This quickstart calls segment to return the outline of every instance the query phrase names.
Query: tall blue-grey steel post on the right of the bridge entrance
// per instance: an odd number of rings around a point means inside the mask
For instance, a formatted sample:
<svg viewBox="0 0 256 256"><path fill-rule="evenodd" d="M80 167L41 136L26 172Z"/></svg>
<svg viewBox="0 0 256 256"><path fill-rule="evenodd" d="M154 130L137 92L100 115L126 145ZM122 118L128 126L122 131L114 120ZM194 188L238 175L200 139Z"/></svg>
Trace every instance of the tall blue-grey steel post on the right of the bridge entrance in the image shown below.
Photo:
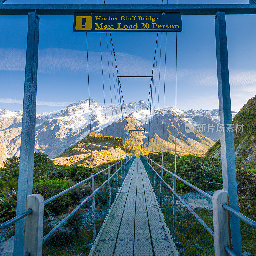
<svg viewBox="0 0 256 256"><path fill-rule="evenodd" d="M215 35L220 125L224 127L224 131L220 133L223 190L228 192L230 206L236 211L239 211L233 130L230 131L230 129L228 129L233 127L233 125L231 116L225 12L218 11L216 13ZM230 214L230 228L233 252L237 256L242 256L240 221L239 218L233 214Z"/></svg>

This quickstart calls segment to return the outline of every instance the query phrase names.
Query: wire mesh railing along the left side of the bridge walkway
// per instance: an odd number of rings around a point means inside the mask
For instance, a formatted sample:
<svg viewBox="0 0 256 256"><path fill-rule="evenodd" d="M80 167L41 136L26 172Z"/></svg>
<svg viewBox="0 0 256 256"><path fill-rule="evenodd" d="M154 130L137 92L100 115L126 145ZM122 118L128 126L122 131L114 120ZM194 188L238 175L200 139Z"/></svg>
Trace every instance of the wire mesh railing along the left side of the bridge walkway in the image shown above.
<svg viewBox="0 0 256 256"><path fill-rule="evenodd" d="M105 181L92 173L92 193L69 213L62 216L54 227L44 224L43 254L44 256L87 255L100 231L100 228L110 212L124 179L132 165L135 156L127 157L126 163L118 163L104 169ZM120 164L120 163L119 163ZM100 171L102 173L102 171ZM89 179L88 178L88 179ZM88 180L86 179L86 180ZM102 183L102 184L100 184ZM67 190L68 193L70 190ZM64 195L65 193L60 193ZM54 196L53 200L59 198ZM52 202L51 198L48 203Z"/></svg>

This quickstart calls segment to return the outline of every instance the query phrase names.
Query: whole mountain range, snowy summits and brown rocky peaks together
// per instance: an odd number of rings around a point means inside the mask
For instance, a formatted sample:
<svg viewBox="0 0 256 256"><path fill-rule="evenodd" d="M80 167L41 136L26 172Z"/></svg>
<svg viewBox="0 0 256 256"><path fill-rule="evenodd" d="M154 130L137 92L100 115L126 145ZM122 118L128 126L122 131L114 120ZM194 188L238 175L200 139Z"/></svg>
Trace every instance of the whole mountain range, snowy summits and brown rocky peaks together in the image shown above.
<svg viewBox="0 0 256 256"><path fill-rule="evenodd" d="M147 118L145 123L145 119L146 116L149 116L150 107L142 100L124 104L124 107L126 138L129 138L129 129L136 130L131 131L132 141L136 141L136 144L145 143L144 147L147 147L149 120ZM219 122L218 109L206 111L176 109L176 112L176 142L180 152L182 149L186 149L186 152L191 150L191 152L201 154L219 139L218 134L206 134L196 130L196 127L203 123L217 124ZM55 158L84 139L90 132L89 114L91 115L92 132L114 137L124 136L120 105L109 106L105 109L103 106L99 106L95 100L90 99L89 111L89 99L85 99L57 111L36 114L35 151ZM158 110L152 108L150 122L149 150L160 151L160 140L162 143L164 140L165 146L168 145L165 147L166 151L168 149L172 151L175 143L175 108L168 107ZM6 159L7 156L19 156L21 123L22 111L0 109L0 143L2 145L0 145L0 161ZM191 125L195 129L186 133L186 125Z"/></svg>

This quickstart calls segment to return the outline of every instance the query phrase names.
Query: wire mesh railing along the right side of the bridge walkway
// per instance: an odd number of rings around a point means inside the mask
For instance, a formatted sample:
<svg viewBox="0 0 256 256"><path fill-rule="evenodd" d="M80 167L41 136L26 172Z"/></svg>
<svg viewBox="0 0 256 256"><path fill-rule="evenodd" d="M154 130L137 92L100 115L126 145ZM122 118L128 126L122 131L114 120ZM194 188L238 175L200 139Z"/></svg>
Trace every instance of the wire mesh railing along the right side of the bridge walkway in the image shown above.
<svg viewBox="0 0 256 256"><path fill-rule="evenodd" d="M157 168L156 165L153 168L145 158L140 156L179 254L214 255L212 229L181 199L168 184L169 182L162 178L163 167ZM175 176L172 179L174 187Z"/></svg>

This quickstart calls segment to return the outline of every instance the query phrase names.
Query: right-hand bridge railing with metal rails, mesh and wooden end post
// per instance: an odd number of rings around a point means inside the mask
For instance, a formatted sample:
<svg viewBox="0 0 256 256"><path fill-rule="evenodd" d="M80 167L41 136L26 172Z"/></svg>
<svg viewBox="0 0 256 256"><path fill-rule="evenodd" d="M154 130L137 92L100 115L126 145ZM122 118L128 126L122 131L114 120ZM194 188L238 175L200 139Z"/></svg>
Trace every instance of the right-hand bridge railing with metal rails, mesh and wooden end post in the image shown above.
<svg viewBox="0 0 256 256"><path fill-rule="evenodd" d="M238 256L230 249L232 248L232 245L230 244L229 239L230 222L228 215L230 213L234 214L240 220L243 220L245 223L249 224L253 228L256 228L256 221L246 217L244 214L228 206L228 192L224 190L218 190L213 194L213 196L211 196L203 190L197 188L193 184L189 183L188 181L180 178L176 175L176 173L168 171L163 166L157 164L147 156L140 155L140 159L142 160L142 163L146 169L148 178L155 192L156 199L163 212L167 226L169 230L172 231L172 238L175 241L177 249L181 255L190 255L190 253L195 253L197 255L220 255L221 251L221 255L224 255L223 250L225 250L230 256ZM154 168L153 164L155 165ZM160 167L160 175L156 171L157 166ZM167 182L163 179L163 170L173 176L173 188L171 188L170 185L167 184ZM189 187L195 189L197 192L213 200L214 232L176 193L176 179L182 181ZM164 188L164 186L166 188ZM166 206L166 204L168 206ZM166 207L168 208L169 213L168 211L166 212ZM221 210L220 207L224 210ZM186 208L189 213L186 212L184 214L184 208ZM212 238L214 238L214 240L205 237L205 233L198 226L196 227L194 220L191 219L189 214L194 216L198 223L200 223L200 225L212 236ZM177 223L180 226L178 230L176 228ZM186 225L188 225L190 228L184 230L184 227ZM191 250L191 244L190 246L186 244L186 241L182 237L182 233L180 234L180 232L183 232L183 236L185 236L186 238L187 236L189 236L188 234L186 234L186 231L190 234L195 231L193 233L194 241L200 241L200 243L197 244L200 246L200 250Z"/></svg>

